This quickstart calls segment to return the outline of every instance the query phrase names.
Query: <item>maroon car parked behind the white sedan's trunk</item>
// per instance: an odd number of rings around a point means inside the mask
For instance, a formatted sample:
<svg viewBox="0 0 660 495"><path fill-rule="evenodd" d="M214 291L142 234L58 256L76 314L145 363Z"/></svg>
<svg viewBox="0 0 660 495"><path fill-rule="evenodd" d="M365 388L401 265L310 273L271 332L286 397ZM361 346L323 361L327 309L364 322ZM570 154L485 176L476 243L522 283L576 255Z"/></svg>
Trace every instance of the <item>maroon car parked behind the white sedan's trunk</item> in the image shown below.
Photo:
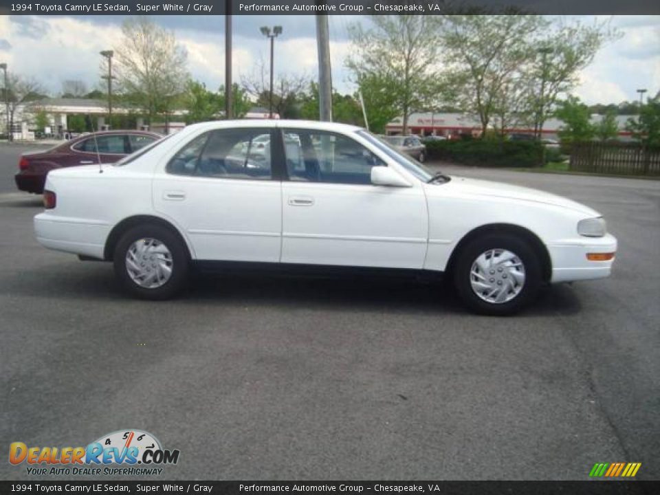
<svg viewBox="0 0 660 495"><path fill-rule="evenodd" d="M99 161L117 162L161 137L147 131L102 131L81 135L48 151L23 153L19 161L20 171L14 179L20 190L41 194L46 174L53 168L98 164Z"/></svg>

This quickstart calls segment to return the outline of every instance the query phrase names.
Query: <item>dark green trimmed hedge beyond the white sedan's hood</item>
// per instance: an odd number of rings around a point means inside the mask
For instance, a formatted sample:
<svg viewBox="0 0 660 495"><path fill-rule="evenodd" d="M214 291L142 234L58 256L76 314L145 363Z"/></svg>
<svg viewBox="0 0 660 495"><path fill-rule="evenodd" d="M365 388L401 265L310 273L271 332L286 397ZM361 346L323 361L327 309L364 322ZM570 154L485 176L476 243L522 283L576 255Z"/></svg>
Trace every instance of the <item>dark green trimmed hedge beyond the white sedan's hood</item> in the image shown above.
<svg viewBox="0 0 660 495"><path fill-rule="evenodd" d="M486 167L542 166L543 144L536 141L460 140L426 143L430 159Z"/></svg>

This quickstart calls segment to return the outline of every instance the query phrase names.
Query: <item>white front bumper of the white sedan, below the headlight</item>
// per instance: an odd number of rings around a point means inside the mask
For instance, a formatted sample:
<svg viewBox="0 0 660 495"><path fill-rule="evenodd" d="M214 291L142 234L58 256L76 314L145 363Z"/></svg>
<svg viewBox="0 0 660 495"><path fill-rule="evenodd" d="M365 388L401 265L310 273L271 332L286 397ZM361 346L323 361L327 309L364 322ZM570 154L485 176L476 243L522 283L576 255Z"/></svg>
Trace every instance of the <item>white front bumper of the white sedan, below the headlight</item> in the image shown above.
<svg viewBox="0 0 660 495"><path fill-rule="evenodd" d="M605 278L610 276L614 258L608 261L589 261L590 253L617 252L617 239L606 234L604 237L580 237L547 246L552 261L551 282L570 282Z"/></svg>

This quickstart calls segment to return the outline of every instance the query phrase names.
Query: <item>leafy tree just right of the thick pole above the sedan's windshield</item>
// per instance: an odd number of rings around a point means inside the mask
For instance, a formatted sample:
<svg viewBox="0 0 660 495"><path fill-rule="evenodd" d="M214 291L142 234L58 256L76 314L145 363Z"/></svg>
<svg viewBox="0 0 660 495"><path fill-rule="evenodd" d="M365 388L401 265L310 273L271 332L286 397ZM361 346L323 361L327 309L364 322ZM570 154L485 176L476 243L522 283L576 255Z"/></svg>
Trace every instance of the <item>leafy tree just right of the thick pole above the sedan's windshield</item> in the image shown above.
<svg viewBox="0 0 660 495"><path fill-rule="evenodd" d="M387 100L387 113L403 116L406 134L410 113L423 106L430 83L439 78L439 17L372 15L370 21L369 29L359 23L349 25L355 55L346 65L362 90L365 106L366 93ZM388 91L387 98L383 91ZM371 115L368 118L371 126ZM380 129L380 122L373 127Z"/></svg>

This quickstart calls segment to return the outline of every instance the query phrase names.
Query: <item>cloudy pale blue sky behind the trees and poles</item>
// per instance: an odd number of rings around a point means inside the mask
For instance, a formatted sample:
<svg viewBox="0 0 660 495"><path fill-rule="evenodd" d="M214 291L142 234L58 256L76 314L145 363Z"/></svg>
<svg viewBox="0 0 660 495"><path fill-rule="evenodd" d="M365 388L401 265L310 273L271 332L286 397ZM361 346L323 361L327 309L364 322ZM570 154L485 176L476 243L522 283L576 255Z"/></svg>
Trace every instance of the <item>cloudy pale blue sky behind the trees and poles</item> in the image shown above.
<svg viewBox="0 0 660 495"><path fill-rule="evenodd" d="M100 86L101 50L121 39L123 16L0 16L0 63L39 80L52 96L61 94L65 80L83 80ZM191 76L217 89L224 83L223 16L155 16L151 18L175 32L188 53ZM603 19L602 17L600 19ZM580 73L573 94L588 104L619 103L660 91L660 16L608 16L623 37L606 45L593 63ZM591 22L593 17L582 17ZM333 86L353 92L344 61L351 52L349 23L366 23L360 16L330 16L330 53ZM282 25L275 42L275 74L318 75L314 16L233 17L232 66L234 82L269 63L269 45L259 32L262 25Z"/></svg>

